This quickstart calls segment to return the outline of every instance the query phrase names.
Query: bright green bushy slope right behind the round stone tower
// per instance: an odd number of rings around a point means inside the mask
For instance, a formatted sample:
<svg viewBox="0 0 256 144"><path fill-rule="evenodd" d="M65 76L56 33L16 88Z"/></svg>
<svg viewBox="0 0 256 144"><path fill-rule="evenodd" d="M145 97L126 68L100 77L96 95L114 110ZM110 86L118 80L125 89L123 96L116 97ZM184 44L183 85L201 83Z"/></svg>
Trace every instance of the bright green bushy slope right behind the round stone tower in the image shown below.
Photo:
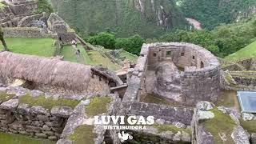
<svg viewBox="0 0 256 144"><path fill-rule="evenodd" d="M224 58L254 42L255 38L256 18L247 18L233 24L222 24L214 30L176 30L174 33L163 35L157 41L191 42Z"/></svg>

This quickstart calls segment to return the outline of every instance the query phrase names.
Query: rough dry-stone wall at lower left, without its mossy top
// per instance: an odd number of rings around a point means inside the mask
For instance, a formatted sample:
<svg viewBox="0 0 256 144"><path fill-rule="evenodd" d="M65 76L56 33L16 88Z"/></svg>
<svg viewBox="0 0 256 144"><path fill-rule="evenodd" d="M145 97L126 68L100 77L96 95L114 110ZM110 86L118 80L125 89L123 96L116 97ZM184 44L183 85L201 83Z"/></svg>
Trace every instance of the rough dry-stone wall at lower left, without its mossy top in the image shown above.
<svg viewBox="0 0 256 144"><path fill-rule="evenodd" d="M73 112L68 106L54 106L49 110L42 106L29 106L18 100L22 94L30 93L37 97L42 92L22 87L0 87L0 92L16 95L10 100L0 102L0 130L4 132L57 140L62 134L67 118Z"/></svg>

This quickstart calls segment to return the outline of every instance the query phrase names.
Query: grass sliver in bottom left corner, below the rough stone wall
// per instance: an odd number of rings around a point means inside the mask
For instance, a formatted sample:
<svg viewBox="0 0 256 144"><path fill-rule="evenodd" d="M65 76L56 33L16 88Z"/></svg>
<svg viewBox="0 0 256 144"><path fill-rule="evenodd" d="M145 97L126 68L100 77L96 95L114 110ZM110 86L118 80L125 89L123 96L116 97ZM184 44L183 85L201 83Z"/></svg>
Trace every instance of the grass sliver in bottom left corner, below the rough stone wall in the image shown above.
<svg viewBox="0 0 256 144"><path fill-rule="evenodd" d="M56 142L47 139L29 138L20 134L6 134L0 132L1 144L54 144Z"/></svg>

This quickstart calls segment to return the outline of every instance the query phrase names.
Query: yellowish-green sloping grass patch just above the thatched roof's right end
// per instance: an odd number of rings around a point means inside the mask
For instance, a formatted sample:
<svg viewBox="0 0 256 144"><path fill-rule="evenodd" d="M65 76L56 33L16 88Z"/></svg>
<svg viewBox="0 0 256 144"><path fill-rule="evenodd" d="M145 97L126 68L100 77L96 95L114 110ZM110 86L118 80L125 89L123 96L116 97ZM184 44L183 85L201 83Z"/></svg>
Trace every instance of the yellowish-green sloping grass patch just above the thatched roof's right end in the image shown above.
<svg viewBox="0 0 256 144"><path fill-rule="evenodd" d="M102 54L100 54L98 51L88 51L87 52L92 63L92 65L102 65L103 67L107 67L110 70L118 70L120 69L120 66L115 64L110 60L110 58L103 57Z"/></svg>

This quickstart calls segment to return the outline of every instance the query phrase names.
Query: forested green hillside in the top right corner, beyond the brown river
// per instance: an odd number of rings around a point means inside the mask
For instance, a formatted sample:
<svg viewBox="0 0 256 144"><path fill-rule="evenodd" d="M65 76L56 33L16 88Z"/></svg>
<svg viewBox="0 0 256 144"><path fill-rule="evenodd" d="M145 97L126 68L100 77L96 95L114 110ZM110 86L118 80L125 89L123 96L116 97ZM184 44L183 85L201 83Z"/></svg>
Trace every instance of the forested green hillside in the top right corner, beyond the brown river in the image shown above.
<svg viewBox="0 0 256 144"><path fill-rule="evenodd" d="M213 29L220 23L238 22L256 13L255 0L177 0L188 18L202 23L203 28Z"/></svg>

